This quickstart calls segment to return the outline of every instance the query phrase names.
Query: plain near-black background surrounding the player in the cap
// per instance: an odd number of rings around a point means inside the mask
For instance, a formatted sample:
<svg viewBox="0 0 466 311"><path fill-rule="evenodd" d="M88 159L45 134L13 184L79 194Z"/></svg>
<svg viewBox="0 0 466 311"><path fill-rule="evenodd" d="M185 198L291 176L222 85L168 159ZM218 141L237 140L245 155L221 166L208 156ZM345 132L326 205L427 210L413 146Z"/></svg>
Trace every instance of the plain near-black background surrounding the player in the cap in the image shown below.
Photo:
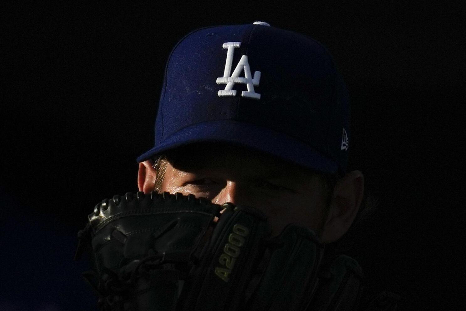
<svg viewBox="0 0 466 311"><path fill-rule="evenodd" d="M354 251L366 275L402 310L459 308L463 19L452 2L394 2L2 3L0 309L95 310L75 233L97 202L137 190L171 48L254 21L321 41L345 78L350 169L380 201Z"/></svg>

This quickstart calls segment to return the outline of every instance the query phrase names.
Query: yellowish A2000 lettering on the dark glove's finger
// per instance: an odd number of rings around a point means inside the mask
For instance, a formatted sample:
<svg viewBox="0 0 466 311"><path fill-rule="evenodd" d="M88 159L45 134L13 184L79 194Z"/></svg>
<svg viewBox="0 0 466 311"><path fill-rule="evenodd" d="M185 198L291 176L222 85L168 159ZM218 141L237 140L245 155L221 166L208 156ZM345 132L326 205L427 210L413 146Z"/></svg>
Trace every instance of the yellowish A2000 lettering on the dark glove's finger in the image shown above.
<svg viewBox="0 0 466 311"><path fill-rule="evenodd" d="M228 242L223 247L223 254L219 257L220 267L215 267L215 275L225 282L230 280L229 276L233 270L236 258L240 256L241 246L245 243L245 237L249 229L239 223L233 226L233 232L228 235Z"/></svg>

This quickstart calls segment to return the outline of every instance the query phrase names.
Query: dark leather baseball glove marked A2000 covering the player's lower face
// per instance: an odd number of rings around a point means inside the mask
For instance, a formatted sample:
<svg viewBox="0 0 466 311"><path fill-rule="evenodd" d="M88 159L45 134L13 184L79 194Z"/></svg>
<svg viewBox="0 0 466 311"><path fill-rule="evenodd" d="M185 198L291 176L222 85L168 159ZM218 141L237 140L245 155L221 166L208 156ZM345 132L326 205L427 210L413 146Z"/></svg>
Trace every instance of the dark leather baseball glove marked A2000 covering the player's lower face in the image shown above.
<svg viewBox="0 0 466 311"><path fill-rule="evenodd" d="M99 310L358 310L363 289L356 261L324 256L310 229L272 238L259 210L193 195L116 195L78 237Z"/></svg>

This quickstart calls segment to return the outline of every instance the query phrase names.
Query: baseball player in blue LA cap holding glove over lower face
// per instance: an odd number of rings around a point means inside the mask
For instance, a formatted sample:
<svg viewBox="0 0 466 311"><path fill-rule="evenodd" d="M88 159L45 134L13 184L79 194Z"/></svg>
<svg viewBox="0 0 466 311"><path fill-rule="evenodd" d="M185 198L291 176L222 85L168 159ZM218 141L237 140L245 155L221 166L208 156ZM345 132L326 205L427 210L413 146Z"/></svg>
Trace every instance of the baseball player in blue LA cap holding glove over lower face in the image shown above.
<svg viewBox="0 0 466 311"><path fill-rule="evenodd" d="M363 173L347 170L349 111L334 61L312 38L262 21L186 35L166 65L155 145L137 159L137 200L104 200L89 218L101 309L395 310L386 295L364 301L357 263L325 252L364 195ZM163 205L179 198L219 213ZM192 237L181 231L197 224Z"/></svg>

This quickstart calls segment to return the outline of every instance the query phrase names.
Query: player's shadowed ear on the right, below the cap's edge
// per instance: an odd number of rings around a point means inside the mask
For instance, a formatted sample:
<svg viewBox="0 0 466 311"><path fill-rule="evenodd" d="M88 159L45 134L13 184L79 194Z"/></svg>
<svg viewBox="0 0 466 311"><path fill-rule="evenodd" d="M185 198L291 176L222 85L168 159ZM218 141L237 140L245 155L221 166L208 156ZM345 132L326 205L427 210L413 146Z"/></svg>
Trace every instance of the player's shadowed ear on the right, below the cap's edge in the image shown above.
<svg viewBox="0 0 466 311"><path fill-rule="evenodd" d="M364 176L360 171L349 172L338 181L327 221L321 231L322 242L335 242L348 231L359 211L363 195Z"/></svg>

